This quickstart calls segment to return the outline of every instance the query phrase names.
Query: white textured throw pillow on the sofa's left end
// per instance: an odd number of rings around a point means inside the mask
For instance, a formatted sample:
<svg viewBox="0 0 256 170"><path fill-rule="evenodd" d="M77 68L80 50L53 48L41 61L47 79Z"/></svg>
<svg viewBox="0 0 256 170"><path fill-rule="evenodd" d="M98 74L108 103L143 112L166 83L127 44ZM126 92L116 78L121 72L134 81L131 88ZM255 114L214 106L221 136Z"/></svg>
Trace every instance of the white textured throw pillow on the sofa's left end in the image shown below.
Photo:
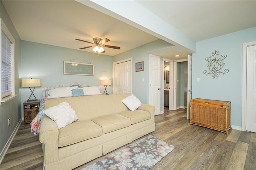
<svg viewBox="0 0 256 170"><path fill-rule="evenodd" d="M56 122L58 129L65 127L78 119L76 111L74 111L68 102L49 107L44 110L44 114Z"/></svg>

